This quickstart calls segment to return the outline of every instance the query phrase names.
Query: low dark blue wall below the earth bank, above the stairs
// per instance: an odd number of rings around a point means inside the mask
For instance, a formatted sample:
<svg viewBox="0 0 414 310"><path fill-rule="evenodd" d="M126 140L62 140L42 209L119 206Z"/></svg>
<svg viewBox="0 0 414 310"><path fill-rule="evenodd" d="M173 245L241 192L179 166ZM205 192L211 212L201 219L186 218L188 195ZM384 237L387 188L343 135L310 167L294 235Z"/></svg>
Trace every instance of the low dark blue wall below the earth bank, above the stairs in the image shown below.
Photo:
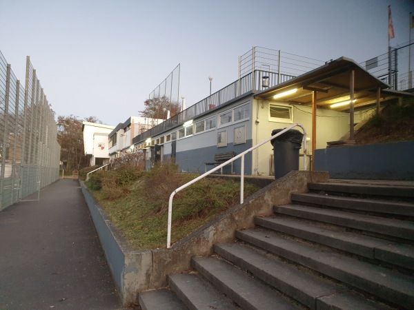
<svg viewBox="0 0 414 310"><path fill-rule="evenodd" d="M330 178L414 180L414 141L316 149L314 160Z"/></svg>

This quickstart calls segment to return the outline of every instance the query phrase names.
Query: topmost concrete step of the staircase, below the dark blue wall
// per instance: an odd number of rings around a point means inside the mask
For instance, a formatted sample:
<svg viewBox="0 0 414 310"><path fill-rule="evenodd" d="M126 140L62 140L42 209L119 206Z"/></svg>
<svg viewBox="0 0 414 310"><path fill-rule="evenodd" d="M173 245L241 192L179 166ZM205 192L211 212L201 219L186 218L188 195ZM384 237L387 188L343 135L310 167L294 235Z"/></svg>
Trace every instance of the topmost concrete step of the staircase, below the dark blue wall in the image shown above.
<svg viewBox="0 0 414 310"><path fill-rule="evenodd" d="M368 183L368 184L366 184ZM369 184L349 182L308 183L311 191L335 192L344 194L358 194L366 196L388 196L414 198L414 183L408 185L389 185L384 183Z"/></svg>

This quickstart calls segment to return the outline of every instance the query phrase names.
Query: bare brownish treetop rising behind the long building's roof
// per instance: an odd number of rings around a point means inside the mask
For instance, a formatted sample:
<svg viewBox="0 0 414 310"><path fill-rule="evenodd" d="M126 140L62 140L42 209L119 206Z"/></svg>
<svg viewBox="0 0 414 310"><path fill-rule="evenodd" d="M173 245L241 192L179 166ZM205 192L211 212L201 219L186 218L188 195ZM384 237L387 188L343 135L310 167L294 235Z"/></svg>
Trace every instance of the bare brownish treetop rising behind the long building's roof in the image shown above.
<svg viewBox="0 0 414 310"><path fill-rule="evenodd" d="M142 116L148 118L166 119L168 111L170 116L175 116L180 110L180 104L177 101L170 101L167 96L154 97L144 101L145 109L139 111Z"/></svg>

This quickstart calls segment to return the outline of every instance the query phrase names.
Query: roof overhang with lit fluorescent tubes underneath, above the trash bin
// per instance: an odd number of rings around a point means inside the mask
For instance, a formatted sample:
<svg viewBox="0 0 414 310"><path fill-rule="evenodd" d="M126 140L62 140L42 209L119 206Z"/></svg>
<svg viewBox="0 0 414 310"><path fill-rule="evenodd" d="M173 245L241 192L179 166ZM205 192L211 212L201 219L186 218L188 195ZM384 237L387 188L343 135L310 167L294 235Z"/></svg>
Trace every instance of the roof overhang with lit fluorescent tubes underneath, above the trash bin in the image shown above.
<svg viewBox="0 0 414 310"><path fill-rule="evenodd" d="M276 85L255 95L255 99L286 102L298 105L312 105L313 92L317 92L317 107L331 108L333 103L349 101L351 94L351 72L354 72L354 108L359 109L377 104L377 90L384 90L388 84L364 70L352 59L341 57L325 65ZM274 99L273 96L297 89L293 94ZM380 101L395 97L390 92L381 92ZM349 105L333 108L348 112Z"/></svg>

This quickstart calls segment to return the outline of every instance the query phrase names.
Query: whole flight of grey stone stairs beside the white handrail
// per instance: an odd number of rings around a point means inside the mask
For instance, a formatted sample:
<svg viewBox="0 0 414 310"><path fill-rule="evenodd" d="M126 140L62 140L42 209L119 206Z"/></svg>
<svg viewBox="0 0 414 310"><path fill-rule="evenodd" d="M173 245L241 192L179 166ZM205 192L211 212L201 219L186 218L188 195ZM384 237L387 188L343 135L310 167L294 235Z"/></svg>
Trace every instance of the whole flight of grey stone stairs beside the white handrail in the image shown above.
<svg viewBox="0 0 414 310"><path fill-rule="evenodd" d="M413 309L414 186L310 183L142 309Z"/></svg>

